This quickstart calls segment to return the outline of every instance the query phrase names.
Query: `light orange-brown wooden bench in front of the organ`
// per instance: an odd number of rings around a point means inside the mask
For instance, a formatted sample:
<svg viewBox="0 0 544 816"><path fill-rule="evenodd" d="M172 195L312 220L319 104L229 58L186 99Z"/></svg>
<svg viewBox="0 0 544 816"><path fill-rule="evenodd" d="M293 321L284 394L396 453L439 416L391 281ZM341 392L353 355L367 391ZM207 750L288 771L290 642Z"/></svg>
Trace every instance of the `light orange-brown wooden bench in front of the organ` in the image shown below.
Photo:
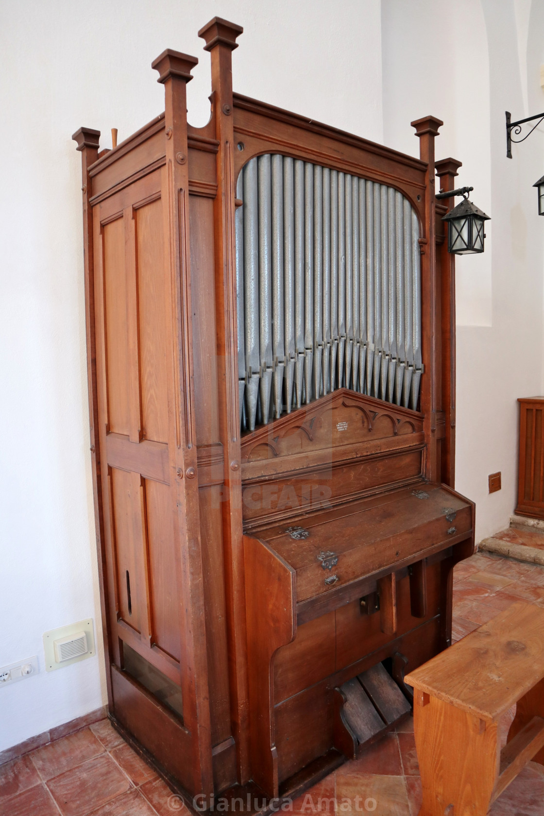
<svg viewBox="0 0 544 816"><path fill-rule="evenodd" d="M511 605L405 682L414 686L419 816L484 816L524 765L544 765L544 609ZM499 721L514 703L501 750Z"/></svg>

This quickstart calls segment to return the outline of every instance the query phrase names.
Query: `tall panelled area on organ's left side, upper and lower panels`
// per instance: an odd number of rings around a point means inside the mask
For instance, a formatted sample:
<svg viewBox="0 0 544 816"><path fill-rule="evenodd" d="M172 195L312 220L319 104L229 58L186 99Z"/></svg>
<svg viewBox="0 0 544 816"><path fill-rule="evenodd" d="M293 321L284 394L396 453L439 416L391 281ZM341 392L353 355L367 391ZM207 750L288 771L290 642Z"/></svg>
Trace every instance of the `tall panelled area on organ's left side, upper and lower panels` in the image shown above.
<svg viewBox="0 0 544 816"><path fill-rule="evenodd" d="M102 247L95 286L100 413L109 419L101 433L109 466L111 623L122 641L179 684L179 547L169 467L172 295L160 175L96 206L95 232ZM118 647L114 654L122 667Z"/></svg>

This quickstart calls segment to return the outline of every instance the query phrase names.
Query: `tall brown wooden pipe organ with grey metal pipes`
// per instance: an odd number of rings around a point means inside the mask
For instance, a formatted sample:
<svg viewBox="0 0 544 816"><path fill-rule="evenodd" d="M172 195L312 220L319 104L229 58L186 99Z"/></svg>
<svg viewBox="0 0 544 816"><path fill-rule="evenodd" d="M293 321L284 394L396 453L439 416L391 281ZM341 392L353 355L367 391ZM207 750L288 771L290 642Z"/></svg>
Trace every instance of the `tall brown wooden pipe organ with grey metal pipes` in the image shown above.
<svg viewBox="0 0 544 816"><path fill-rule="evenodd" d="M355 756L356 678L409 697L474 547L435 200L460 162L436 118L416 159L233 94L241 31L201 29L205 127L168 50L165 113L73 136L109 712L189 803Z"/></svg>

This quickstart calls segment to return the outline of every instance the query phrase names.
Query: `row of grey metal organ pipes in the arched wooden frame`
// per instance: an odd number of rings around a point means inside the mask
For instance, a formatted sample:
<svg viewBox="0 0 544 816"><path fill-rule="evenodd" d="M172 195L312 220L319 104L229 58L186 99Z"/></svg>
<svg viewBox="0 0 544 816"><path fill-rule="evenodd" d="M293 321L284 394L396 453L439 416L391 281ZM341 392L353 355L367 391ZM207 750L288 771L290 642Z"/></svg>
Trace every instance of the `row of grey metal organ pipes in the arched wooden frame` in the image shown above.
<svg viewBox="0 0 544 816"><path fill-rule="evenodd" d="M242 430L335 388L418 406L418 217L394 188L266 154L237 181Z"/></svg>

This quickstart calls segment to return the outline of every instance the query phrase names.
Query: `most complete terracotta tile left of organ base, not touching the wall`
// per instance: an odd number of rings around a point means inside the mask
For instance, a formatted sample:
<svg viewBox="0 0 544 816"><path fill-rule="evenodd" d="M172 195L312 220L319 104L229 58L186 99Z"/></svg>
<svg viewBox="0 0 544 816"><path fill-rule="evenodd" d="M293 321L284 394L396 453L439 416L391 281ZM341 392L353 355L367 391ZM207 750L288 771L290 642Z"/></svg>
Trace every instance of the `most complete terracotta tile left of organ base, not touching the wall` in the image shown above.
<svg viewBox="0 0 544 816"><path fill-rule="evenodd" d="M50 779L47 787L64 816L82 816L130 789L111 756L103 754Z"/></svg>

